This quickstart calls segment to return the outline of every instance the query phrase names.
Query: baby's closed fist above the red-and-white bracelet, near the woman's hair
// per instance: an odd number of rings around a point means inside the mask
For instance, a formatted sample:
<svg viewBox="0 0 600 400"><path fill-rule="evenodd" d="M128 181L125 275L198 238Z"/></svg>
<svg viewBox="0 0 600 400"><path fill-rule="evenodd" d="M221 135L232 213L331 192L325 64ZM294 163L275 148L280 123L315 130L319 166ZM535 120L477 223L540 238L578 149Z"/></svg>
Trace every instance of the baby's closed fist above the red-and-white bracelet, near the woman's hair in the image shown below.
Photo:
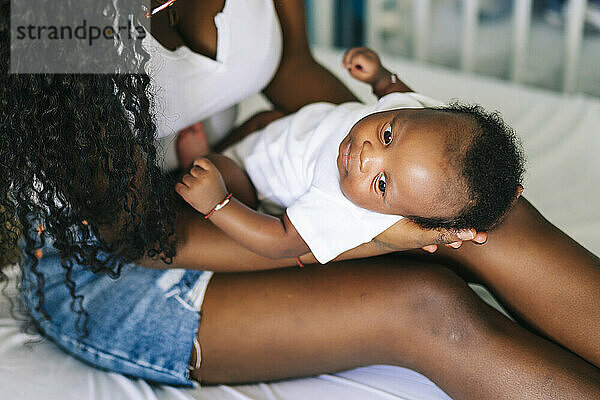
<svg viewBox="0 0 600 400"><path fill-rule="evenodd" d="M208 214L227 195L221 173L207 158L194 160L190 172L175 185L175 191L202 214Z"/></svg>

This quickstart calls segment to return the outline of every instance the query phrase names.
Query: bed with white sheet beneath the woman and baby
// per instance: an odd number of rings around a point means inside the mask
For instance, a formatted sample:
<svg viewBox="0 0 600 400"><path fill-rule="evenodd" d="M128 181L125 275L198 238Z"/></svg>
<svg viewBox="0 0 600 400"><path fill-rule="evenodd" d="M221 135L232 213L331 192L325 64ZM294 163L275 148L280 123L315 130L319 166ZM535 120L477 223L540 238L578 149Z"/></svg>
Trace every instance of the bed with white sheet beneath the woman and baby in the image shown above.
<svg viewBox="0 0 600 400"><path fill-rule="evenodd" d="M317 48L315 56L359 97L374 101L369 87L340 67L340 51ZM600 100L560 95L514 83L382 57L413 89L441 100L463 99L497 109L519 133L528 157L525 196L554 224L600 254ZM298 77L301 79L301 77ZM240 106L240 120L266 107L255 96ZM13 278L14 281L14 278ZM484 300L494 303L479 287ZM369 366L330 375L254 385L156 386L94 369L24 330L11 312L16 293L0 297L0 399L156 400L384 400L448 399L424 376L405 368Z"/></svg>

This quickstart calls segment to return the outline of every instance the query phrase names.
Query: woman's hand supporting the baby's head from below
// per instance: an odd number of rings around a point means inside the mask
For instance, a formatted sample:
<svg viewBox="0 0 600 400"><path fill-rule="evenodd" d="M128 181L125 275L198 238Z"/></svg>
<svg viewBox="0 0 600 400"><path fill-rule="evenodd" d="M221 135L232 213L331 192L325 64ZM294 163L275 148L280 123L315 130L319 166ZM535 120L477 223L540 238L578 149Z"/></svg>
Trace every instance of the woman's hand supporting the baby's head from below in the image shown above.
<svg viewBox="0 0 600 400"><path fill-rule="evenodd" d="M404 251L421 248L434 253L438 245L458 249L463 241L483 244L487 241L486 232L474 229L424 229L407 218L403 218L375 239L375 244L390 251Z"/></svg>

